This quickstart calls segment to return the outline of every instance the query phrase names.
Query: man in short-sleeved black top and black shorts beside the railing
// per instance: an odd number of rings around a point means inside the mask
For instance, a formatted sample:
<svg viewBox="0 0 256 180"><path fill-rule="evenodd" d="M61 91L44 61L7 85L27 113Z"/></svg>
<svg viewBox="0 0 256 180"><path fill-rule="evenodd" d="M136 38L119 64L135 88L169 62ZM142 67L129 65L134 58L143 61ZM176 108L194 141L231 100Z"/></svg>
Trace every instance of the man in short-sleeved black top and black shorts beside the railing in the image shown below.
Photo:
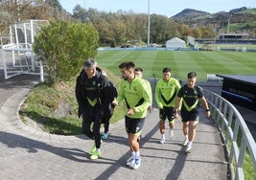
<svg viewBox="0 0 256 180"><path fill-rule="evenodd" d="M185 140L183 146L187 146L186 152L190 152L192 143L196 137L196 127L199 121L199 101L205 107L206 116L210 117L210 109L204 98L202 88L196 85L197 74L188 73L188 82L180 88L175 102L175 119L178 117L177 110L182 100L180 115L183 122L183 133Z"/></svg>

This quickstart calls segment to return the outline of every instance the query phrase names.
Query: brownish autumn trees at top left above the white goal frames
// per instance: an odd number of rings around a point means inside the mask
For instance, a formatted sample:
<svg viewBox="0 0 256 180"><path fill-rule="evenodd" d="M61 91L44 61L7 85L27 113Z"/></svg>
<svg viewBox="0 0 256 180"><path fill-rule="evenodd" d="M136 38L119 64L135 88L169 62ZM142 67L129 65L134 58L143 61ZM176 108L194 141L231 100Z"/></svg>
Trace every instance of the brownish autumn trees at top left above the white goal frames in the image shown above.
<svg viewBox="0 0 256 180"><path fill-rule="evenodd" d="M74 20L58 0L0 0L0 34L8 34L9 25L28 19Z"/></svg>

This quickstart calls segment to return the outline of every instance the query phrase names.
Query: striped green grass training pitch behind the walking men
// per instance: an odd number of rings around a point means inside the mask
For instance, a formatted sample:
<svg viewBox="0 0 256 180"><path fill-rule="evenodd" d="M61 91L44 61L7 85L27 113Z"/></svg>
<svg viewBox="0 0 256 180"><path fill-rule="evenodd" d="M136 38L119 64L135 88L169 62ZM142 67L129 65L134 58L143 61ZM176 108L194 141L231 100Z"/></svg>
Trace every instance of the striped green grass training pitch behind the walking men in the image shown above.
<svg viewBox="0 0 256 180"><path fill-rule="evenodd" d="M207 74L256 75L256 53L207 51L157 51L157 50L102 50L96 59L100 66L120 76L118 65L130 60L142 67L144 78L162 78L162 69L170 67L176 79L186 79L195 71L198 80Z"/></svg>

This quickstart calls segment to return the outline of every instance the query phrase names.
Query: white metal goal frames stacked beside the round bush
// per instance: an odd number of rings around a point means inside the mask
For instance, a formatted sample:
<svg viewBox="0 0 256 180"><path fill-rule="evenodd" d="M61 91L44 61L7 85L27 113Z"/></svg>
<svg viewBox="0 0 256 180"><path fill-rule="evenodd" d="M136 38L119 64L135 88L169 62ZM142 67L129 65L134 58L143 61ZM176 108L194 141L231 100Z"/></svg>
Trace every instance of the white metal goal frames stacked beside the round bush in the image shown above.
<svg viewBox="0 0 256 180"><path fill-rule="evenodd" d="M45 25L46 20L27 20L10 26L9 43L3 44L2 58L5 79L20 74L38 74L44 81L43 64L32 50L35 35Z"/></svg>

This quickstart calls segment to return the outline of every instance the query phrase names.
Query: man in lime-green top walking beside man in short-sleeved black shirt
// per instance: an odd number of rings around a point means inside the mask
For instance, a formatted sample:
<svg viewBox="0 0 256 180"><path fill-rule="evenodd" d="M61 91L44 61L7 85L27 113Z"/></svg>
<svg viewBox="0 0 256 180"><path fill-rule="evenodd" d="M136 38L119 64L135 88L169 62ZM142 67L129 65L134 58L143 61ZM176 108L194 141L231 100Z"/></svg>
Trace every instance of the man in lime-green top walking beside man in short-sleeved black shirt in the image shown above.
<svg viewBox="0 0 256 180"><path fill-rule="evenodd" d="M161 133L160 143L165 143L165 120L168 119L170 131L170 139L174 136L175 118L173 110L177 92L180 89L180 84L177 79L171 78L171 69L163 68L163 79L157 81L155 86L155 101L159 108L159 130Z"/></svg>

